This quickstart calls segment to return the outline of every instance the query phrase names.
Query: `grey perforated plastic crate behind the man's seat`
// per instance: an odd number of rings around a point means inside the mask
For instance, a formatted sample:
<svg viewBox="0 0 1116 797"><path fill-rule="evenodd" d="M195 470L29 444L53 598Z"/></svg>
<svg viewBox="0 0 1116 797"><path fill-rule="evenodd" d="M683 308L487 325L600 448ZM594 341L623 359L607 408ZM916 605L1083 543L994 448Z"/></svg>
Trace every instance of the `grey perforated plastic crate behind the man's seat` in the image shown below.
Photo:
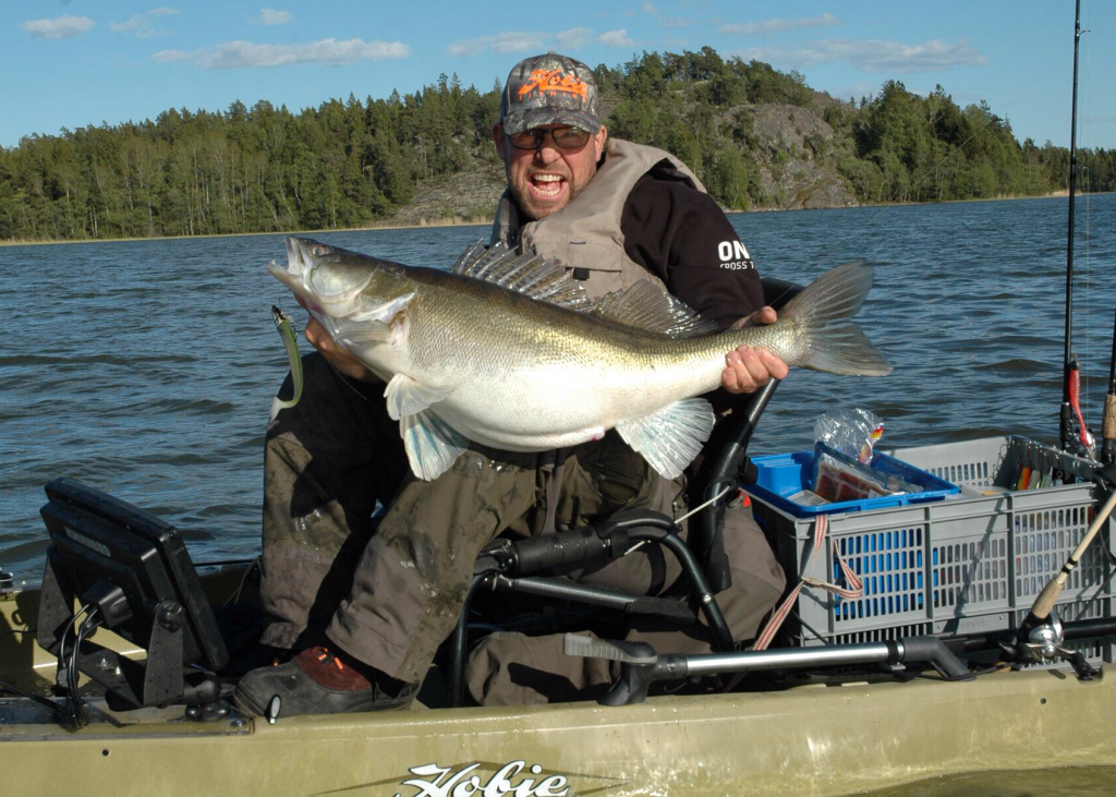
<svg viewBox="0 0 1116 797"><path fill-rule="evenodd" d="M788 633L801 645L1014 628L1085 535L1096 511L1091 463L1023 438L991 438L901 449L896 458L963 484L945 500L829 515L829 535L864 580L841 599L805 587ZM1012 490L1019 467L1060 469L1076 483ZM988 493L988 494L983 494ZM797 518L756 496L753 508L789 577L809 565L815 518ZM1058 601L1064 618L1112 616L1108 560L1086 551ZM831 544L812 573L840 584ZM1098 597L1093 602L1094 597ZM1106 641L1081 644L1094 662L1113 661Z"/></svg>

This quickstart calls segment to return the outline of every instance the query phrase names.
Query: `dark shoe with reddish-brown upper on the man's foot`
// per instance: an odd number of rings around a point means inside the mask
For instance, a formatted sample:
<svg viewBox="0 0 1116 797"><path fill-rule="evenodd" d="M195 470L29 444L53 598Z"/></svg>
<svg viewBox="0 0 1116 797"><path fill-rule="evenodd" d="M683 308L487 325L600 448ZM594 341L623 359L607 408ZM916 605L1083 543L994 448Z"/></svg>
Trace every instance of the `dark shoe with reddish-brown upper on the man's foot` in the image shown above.
<svg viewBox="0 0 1116 797"><path fill-rule="evenodd" d="M417 684L407 683L392 693L378 681L368 680L325 647L310 647L286 664L277 662L249 672L237 684L233 702L251 717L336 714L405 709L419 691ZM276 698L278 710L270 708Z"/></svg>

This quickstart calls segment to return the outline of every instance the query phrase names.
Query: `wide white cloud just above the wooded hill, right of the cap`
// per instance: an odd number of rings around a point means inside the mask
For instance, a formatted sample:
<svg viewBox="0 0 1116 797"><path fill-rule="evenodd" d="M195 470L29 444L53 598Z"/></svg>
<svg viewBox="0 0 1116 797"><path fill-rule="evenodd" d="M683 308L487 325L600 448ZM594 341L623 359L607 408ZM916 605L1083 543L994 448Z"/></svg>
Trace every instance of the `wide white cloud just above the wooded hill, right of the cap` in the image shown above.
<svg viewBox="0 0 1116 797"><path fill-rule="evenodd" d="M870 41L828 39L797 50L752 47L728 55L796 69L815 64L843 63L862 71L898 74L933 71L988 63L984 56L969 47L965 39L956 44L933 39L924 45L903 45L881 39Z"/></svg>

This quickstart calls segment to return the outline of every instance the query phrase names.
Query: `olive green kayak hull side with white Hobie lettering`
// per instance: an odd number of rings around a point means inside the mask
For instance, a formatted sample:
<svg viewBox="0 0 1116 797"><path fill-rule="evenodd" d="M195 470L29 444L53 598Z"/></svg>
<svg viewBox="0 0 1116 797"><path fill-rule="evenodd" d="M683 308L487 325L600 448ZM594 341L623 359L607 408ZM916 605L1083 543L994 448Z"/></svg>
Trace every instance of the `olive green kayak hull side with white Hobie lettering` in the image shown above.
<svg viewBox="0 0 1116 797"><path fill-rule="evenodd" d="M2 680L16 666L52 678L30 634L4 633L27 627L33 603L0 599ZM1116 675L1055 671L275 724L100 705L71 732L26 700L0 700L3 794L820 797L973 770L1116 765Z"/></svg>

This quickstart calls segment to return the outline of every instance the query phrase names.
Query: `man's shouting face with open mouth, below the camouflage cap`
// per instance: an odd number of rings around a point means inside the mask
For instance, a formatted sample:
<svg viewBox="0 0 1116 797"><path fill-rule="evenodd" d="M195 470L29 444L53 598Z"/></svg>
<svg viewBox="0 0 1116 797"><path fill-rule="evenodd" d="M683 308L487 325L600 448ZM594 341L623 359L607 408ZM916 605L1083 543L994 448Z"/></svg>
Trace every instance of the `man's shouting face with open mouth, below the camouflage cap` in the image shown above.
<svg viewBox="0 0 1116 797"><path fill-rule="evenodd" d="M538 129L560 129L566 125L542 125ZM557 213L580 193L593 175L605 148L608 131L590 135L584 146L570 150L555 144L546 135L537 150L517 150L503 133L503 125L492 125L492 141L503 159L508 185L520 211L532 221Z"/></svg>

